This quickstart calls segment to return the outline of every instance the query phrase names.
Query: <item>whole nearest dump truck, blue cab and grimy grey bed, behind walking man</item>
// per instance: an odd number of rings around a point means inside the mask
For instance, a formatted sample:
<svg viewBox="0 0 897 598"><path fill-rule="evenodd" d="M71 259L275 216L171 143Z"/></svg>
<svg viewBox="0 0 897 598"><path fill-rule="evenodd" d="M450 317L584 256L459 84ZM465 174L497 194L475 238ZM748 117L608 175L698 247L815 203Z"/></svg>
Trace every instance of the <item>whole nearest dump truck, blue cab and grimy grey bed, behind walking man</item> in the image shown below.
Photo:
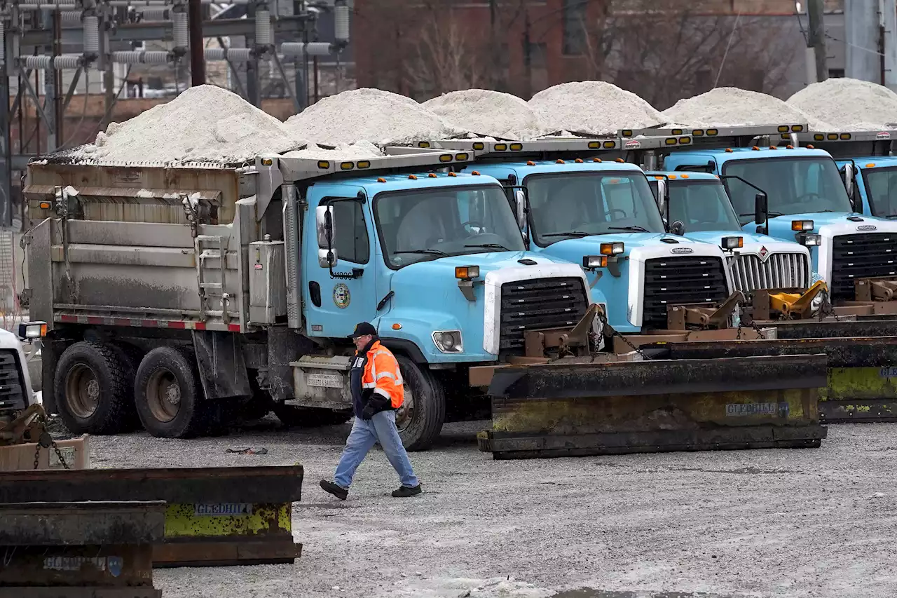
<svg viewBox="0 0 897 598"><path fill-rule="evenodd" d="M269 406L343 422L348 336L371 321L402 366L403 441L422 449L447 418L488 412L467 370L523 356L526 330L579 325L565 347L591 353L579 264L526 251L501 184L452 171L472 154L403 152L30 164L45 405L76 434L186 437Z"/></svg>

